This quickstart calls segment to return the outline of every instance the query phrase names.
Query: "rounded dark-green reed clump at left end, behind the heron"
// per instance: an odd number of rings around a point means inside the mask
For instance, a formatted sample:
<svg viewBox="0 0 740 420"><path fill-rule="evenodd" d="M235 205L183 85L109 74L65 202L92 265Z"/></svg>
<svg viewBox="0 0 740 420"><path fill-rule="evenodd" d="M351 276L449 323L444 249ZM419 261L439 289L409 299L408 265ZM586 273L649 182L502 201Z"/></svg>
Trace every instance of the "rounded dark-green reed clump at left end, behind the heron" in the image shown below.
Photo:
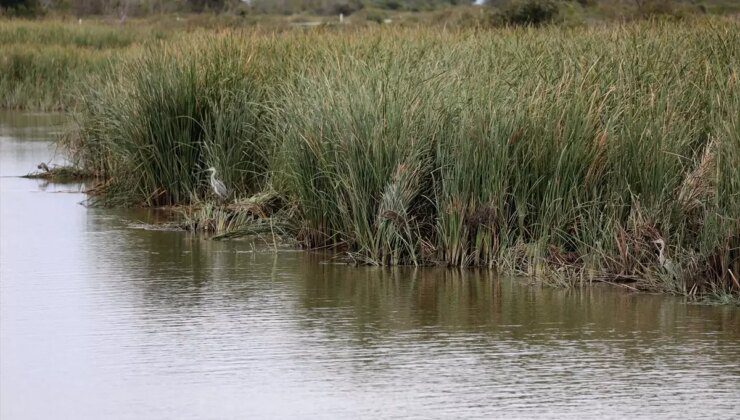
<svg viewBox="0 0 740 420"><path fill-rule="evenodd" d="M114 202L187 202L204 193L211 166L236 195L265 184L264 106L247 52L230 38L189 42L152 47L81 104L69 147L84 169L112 176Z"/></svg>

